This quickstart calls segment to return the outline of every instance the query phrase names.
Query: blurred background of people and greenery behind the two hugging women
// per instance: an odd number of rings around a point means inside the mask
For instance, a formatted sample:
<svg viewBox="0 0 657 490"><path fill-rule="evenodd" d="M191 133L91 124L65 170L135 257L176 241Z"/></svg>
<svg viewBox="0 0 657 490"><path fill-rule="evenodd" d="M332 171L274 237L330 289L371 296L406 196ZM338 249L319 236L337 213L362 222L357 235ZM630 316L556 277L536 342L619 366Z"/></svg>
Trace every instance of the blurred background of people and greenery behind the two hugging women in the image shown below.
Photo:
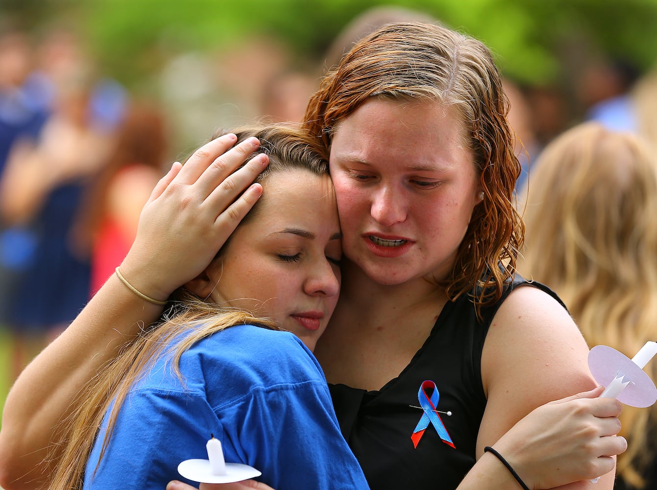
<svg viewBox="0 0 657 490"><path fill-rule="evenodd" d="M219 127L300 120L353 40L424 18L497 56L522 201L543 148L580 123L657 144L655 0L2 0L0 408L125 256L171 162Z"/></svg>

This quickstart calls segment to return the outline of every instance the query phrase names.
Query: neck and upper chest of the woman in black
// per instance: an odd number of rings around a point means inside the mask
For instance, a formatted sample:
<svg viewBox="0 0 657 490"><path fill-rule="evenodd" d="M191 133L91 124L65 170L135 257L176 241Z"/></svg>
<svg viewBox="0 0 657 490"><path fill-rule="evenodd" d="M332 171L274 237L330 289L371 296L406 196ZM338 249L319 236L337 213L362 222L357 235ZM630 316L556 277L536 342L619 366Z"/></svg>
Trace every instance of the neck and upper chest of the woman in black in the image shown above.
<svg viewBox="0 0 657 490"><path fill-rule="evenodd" d="M340 301L315 349L328 382L379 390L422 347L445 301L424 278L384 285L343 264ZM376 369L363 369L369 364Z"/></svg>

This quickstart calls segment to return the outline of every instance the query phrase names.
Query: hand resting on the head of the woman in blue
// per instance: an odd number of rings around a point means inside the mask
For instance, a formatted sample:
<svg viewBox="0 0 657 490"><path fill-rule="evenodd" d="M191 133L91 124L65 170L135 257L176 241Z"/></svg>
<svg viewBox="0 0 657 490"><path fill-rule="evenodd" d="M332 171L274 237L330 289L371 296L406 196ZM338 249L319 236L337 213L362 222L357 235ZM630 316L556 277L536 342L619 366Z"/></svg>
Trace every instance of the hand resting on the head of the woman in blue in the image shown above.
<svg viewBox="0 0 657 490"><path fill-rule="evenodd" d="M184 166L173 164L145 204L121 271L151 298L166 300L202 273L260 198L262 188L252 182L269 160L259 154L238 169L259 142L249 138L233 147L235 141L223 135Z"/></svg>

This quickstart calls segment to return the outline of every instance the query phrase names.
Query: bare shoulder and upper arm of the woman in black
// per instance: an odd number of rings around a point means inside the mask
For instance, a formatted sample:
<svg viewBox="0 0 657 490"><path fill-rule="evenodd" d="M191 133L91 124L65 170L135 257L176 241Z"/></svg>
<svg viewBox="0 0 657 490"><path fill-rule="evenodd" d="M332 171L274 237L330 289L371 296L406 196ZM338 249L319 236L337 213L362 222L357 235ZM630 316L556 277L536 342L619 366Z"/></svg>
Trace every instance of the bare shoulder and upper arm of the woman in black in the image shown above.
<svg viewBox="0 0 657 490"><path fill-rule="evenodd" d="M535 407L595 387L589 347L556 296L514 288L491 322L482 351L487 405L478 451Z"/></svg>

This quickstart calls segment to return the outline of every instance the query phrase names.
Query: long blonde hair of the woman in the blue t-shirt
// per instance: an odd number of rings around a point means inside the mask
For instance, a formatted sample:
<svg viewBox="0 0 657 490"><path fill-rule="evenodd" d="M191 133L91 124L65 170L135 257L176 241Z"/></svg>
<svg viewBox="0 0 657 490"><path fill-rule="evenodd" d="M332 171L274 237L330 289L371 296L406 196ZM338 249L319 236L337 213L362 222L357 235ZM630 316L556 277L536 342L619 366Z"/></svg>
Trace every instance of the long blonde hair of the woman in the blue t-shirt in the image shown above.
<svg viewBox="0 0 657 490"><path fill-rule="evenodd" d="M305 133L290 125L281 123L266 127L247 127L233 132L237 134L238 141L251 136L257 137L260 139L259 152L269 155L269 166L256 179L258 181L265 180L267 175L273 172L293 168L307 169L315 175L328 175L328 162L321 148L313 139L306 137ZM266 184L264 186L266 188ZM254 219L259 208L259 204L256 204L242 223ZM226 244L222 250L225 250L225 247ZM221 250L215 260L220 259ZM181 355L198 340L237 324L278 328L270 319L255 317L248 311L208 303L185 288L177 290L171 296L168 309L160 321L143 328L138 336L124 346L118 357L102 367L81 390L74 401L74 411L62 422L58 430L53 456L47 461L47 466L53 468L49 488L81 488L85 466L105 413L114 401L102 443L101 458L108 447L119 409L130 388L147 374L155 359L166 355L173 372L184 384L183 375L179 370ZM57 456L62 446L63 454Z"/></svg>

